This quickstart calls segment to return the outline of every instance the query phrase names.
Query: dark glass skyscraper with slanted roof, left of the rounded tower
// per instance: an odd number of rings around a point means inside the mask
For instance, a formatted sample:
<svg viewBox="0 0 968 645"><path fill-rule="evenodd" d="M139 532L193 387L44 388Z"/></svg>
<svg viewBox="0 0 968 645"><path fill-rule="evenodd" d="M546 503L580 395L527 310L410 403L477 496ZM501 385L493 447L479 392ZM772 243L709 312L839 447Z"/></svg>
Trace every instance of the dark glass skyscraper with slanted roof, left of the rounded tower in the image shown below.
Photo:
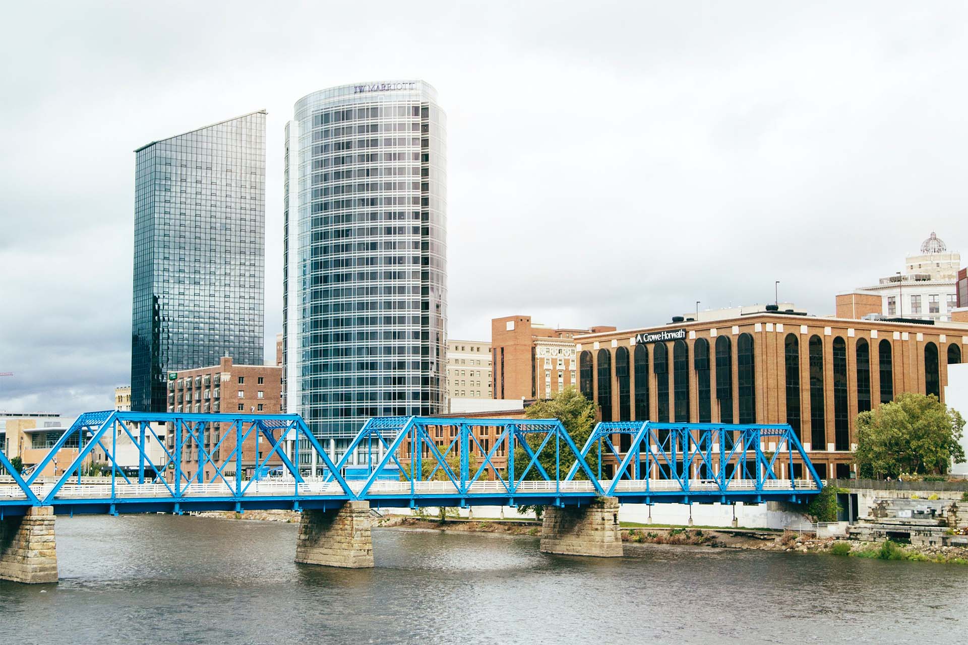
<svg viewBox="0 0 968 645"><path fill-rule="evenodd" d="M168 371L262 363L265 110L135 153L131 401L164 412Z"/></svg>

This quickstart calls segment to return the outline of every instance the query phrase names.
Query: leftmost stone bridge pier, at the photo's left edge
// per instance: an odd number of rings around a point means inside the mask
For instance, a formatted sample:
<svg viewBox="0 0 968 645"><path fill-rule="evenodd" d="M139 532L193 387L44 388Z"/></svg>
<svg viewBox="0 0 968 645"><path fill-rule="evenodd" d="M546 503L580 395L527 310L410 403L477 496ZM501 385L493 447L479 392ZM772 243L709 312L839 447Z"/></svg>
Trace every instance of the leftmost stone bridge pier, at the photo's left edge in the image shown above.
<svg viewBox="0 0 968 645"><path fill-rule="evenodd" d="M57 542L52 507L31 507L0 519L0 578L15 582L57 582Z"/></svg>

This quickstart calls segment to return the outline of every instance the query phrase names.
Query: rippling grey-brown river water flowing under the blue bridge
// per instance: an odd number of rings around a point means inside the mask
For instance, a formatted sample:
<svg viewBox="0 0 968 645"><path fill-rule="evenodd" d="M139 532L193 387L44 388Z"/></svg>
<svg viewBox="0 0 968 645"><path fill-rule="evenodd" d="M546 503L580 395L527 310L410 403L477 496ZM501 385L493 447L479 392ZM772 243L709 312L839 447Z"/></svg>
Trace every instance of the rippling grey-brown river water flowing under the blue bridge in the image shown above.
<svg viewBox="0 0 968 645"><path fill-rule="evenodd" d="M968 567L707 547L541 554L374 531L376 568L292 562L296 525L58 518L60 582L0 581L0 643L963 642Z"/></svg>

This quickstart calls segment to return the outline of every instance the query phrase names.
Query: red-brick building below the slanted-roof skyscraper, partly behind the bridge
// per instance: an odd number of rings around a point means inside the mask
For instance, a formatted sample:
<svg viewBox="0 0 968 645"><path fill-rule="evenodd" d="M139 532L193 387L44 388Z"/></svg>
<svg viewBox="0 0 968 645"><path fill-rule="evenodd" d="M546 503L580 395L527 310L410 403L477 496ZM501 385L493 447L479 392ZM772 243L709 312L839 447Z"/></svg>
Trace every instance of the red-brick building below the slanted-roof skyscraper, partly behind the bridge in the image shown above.
<svg viewBox="0 0 968 645"><path fill-rule="evenodd" d="M281 366L237 366L232 365L232 359L225 357L219 365L199 367L197 369L183 369L168 372L168 412L193 413L232 413L232 414L280 414L282 392ZM212 461L217 465L206 463L207 475L211 477L215 468L223 460L231 458L235 451L235 437L227 436L219 445L220 431L227 427L222 424L210 425L203 438L205 451L211 454ZM175 448L174 428L169 427L166 444L169 451ZM183 441L185 440L183 432ZM272 446L263 437L260 440L256 454L256 435L251 434L242 446L242 466L247 474L251 474L260 460ZM198 450L194 442L188 443L188 448L182 454L182 469L192 477L197 474L199 465ZM278 465L282 460L273 456L268 464ZM232 474L235 468L229 464L226 472Z"/></svg>

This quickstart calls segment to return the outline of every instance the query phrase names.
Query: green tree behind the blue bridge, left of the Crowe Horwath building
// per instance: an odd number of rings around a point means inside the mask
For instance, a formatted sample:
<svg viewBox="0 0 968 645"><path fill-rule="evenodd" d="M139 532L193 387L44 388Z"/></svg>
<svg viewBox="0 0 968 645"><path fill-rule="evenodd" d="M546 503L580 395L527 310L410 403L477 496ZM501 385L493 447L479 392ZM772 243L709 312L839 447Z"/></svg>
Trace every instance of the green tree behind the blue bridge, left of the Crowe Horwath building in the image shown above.
<svg viewBox="0 0 968 645"><path fill-rule="evenodd" d="M575 442L575 447L581 451L585 446L585 443L589 440L591 436L591 430L595 425L595 409L596 406L593 401L586 398L581 392L575 388L565 388L554 398L550 398L544 401L538 401L533 405L529 406L525 410L525 417L528 419L558 419L561 425L564 425L564 429L567 430L568 435L571 436L572 441ZM537 452L537 449L541 446L541 442L544 441L545 435L540 433L534 433L528 435L528 445L533 452ZM517 448L514 451L514 468L515 477L520 478L521 473L525 468L528 467L530 463L530 456L525 451L524 448ZM598 467L598 454L597 451L590 451L589 455L586 457L586 462L589 464L592 472ZM545 449L538 454L538 463L541 467L545 469L549 477L555 477L555 440L552 439L545 446ZM576 456L568 448L568 445L564 442L560 444L560 462L559 462L559 472L560 477L563 479L568 473L568 470L575 463ZM526 480L539 480L543 479L541 477L540 471L538 471L536 466L532 466L528 474L525 476ZM587 480L588 475L585 471L579 468L575 475L576 480ZM528 512L534 511L537 517L540 519L541 513L544 511L543 507L536 507L531 505L524 505L519 507L520 511Z"/></svg>

